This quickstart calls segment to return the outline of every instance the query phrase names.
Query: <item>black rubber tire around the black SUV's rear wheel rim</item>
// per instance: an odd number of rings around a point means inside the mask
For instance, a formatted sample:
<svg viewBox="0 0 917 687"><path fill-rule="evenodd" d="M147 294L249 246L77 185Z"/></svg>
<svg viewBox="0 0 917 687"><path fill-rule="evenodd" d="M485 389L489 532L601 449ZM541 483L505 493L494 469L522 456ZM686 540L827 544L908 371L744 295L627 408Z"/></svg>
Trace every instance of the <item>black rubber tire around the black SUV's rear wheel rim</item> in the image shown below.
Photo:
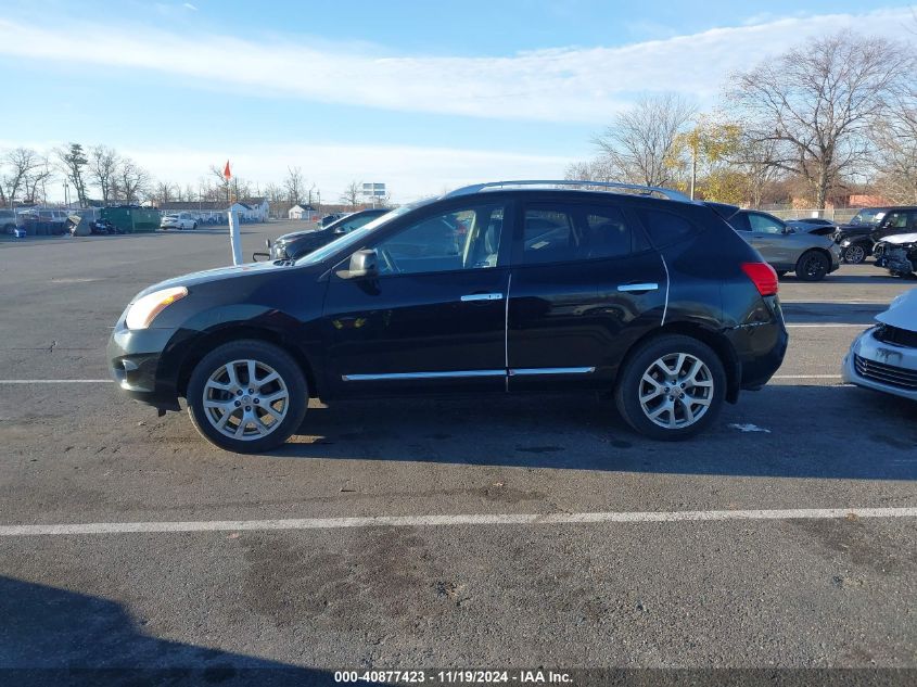
<svg viewBox="0 0 917 687"><path fill-rule="evenodd" d="M697 417L697 419L691 423L677 425L678 419L676 416L678 412L682 414L682 421L687 422L687 417L685 416L685 407L687 404L684 400L676 398L673 403L668 404L674 408L674 411L670 414L670 418L674 419L676 427L662 427L649 417L649 411L655 410L655 407L648 408L647 411L644 409L644 404L640 398L641 392L646 385L644 377L645 374L653 376L652 370L654 369L653 365L655 361L665 359L667 356L673 356L677 359L678 354L686 354L686 356L693 357L696 360L700 360L703 366L705 366L703 370L705 372L703 380L712 384L705 398L709 403L706 404L705 410L702 412L698 411L695 414L691 411L693 415L699 415L699 417ZM673 367L676 365L677 364L673 364ZM655 379L654 376L653 379ZM679 377L677 379L684 378ZM661 380L660 383L668 384L670 382ZM680 383L684 382L675 382L675 384ZM695 389L703 389L703 386L704 385L698 385ZM665 387L673 390L674 394L685 394L687 391L685 390L679 392L679 387L676 385ZM691 389L691 386L688 386L688 389ZM700 393L706 394L706 392ZM693 436L698 432L702 432L714 420L716 420L716 417L719 415L719 410L723 406L723 398L725 397L725 394L726 370L723 367L719 356L716 355L713 348L697 339L692 339L691 336L666 334L664 336L651 339L642 344L642 346L629 357L627 362L625 362L624 368L619 373L617 383L614 389L614 403L617 406L617 411L621 414L624 421L640 434L657 441L679 441ZM665 394L662 394L662 396L663 397L659 398L659 400L662 404L666 404L668 402L668 397L666 397ZM651 403L655 403L655 400L657 399L653 399ZM660 418L660 420L662 420L662 418Z"/></svg>

